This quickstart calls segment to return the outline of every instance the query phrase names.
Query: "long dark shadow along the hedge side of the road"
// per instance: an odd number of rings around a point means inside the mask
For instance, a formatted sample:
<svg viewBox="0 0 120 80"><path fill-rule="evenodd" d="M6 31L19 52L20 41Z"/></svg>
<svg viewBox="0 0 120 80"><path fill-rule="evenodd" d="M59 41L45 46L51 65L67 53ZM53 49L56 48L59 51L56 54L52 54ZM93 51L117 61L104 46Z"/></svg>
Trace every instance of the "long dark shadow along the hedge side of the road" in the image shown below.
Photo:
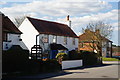
<svg viewBox="0 0 120 80"><path fill-rule="evenodd" d="M83 70L86 68L97 68L97 67L105 67L105 66L111 66L111 65L120 65L118 63L104 63L102 65L94 65L94 66L84 66L84 67L78 67L78 68L71 68L71 69L65 69L65 70ZM37 74L37 75L30 75L30 76L22 76L22 77L14 77L14 78L4 78L2 80L41 80L41 79L47 79L52 77L58 77L58 76L64 76L68 74L73 73L89 73L89 72L67 72L67 71L61 71L56 73L46 73L46 74ZM106 77L106 76L104 76Z"/></svg>

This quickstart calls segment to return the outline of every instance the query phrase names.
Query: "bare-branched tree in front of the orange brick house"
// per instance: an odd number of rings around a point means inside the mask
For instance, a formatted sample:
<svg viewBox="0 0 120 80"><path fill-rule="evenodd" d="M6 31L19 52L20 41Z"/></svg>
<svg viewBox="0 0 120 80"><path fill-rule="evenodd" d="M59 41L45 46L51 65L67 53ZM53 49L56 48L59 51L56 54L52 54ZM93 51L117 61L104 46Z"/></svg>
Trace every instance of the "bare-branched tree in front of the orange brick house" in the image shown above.
<svg viewBox="0 0 120 80"><path fill-rule="evenodd" d="M96 23L89 23L86 28L83 28L83 32L88 32L87 38L89 42L87 46L91 47L98 54L102 56L102 47L104 46L103 41L105 39L110 39L112 36L113 27L110 24L98 21Z"/></svg>

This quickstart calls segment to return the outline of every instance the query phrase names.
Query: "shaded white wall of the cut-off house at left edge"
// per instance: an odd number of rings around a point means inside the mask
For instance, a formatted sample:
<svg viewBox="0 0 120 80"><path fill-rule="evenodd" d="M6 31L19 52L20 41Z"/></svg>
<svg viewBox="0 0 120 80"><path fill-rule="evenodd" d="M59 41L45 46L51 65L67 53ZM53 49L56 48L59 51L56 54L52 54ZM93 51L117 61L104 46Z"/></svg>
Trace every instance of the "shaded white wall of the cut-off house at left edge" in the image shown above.
<svg viewBox="0 0 120 80"><path fill-rule="evenodd" d="M12 45L20 45L23 49L28 50L25 44L22 41L20 41L20 35L21 34L8 33L8 42L3 42L3 50L8 50L9 48L11 48Z"/></svg>

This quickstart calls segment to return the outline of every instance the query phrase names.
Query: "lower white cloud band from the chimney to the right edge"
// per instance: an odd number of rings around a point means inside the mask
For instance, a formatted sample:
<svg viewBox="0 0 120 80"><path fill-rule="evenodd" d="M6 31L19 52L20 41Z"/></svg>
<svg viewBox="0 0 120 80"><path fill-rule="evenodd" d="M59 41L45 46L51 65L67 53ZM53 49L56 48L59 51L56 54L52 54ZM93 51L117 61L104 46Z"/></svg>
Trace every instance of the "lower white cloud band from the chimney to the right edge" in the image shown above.
<svg viewBox="0 0 120 80"><path fill-rule="evenodd" d="M114 9L111 10L107 13L98 13L98 14L90 14L90 15L85 15L82 17L70 17L70 19L72 20L72 22L75 25L84 25L84 24L88 24L89 22L93 21L105 21L105 22L109 22L109 21L117 21L118 20L118 10ZM65 21L65 18L58 18L58 21L62 22ZM117 23L113 23L113 26L117 26Z"/></svg>

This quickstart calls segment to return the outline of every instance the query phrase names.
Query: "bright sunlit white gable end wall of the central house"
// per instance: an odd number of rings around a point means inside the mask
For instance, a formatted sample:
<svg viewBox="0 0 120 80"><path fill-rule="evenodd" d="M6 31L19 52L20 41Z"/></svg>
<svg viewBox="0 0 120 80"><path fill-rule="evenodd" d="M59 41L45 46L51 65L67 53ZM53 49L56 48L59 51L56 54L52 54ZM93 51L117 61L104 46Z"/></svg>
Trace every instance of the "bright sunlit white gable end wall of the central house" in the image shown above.
<svg viewBox="0 0 120 80"><path fill-rule="evenodd" d="M31 51L31 47L36 45L36 35L39 34L38 31L27 18L20 25L19 30L23 33L21 35L23 42L27 46L28 50Z"/></svg>

